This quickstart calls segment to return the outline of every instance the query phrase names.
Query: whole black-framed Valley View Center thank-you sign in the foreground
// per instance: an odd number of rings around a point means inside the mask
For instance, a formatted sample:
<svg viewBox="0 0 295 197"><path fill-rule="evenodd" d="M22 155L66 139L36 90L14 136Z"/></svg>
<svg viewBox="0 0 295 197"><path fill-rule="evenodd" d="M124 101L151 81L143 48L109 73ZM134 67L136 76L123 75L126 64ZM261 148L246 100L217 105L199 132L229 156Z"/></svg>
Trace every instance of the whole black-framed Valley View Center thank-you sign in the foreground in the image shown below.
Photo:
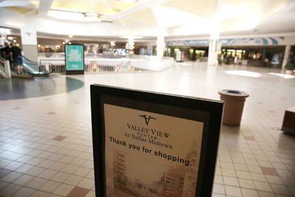
<svg viewBox="0 0 295 197"><path fill-rule="evenodd" d="M222 101L91 85L96 196L211 196Z"/></svg>

